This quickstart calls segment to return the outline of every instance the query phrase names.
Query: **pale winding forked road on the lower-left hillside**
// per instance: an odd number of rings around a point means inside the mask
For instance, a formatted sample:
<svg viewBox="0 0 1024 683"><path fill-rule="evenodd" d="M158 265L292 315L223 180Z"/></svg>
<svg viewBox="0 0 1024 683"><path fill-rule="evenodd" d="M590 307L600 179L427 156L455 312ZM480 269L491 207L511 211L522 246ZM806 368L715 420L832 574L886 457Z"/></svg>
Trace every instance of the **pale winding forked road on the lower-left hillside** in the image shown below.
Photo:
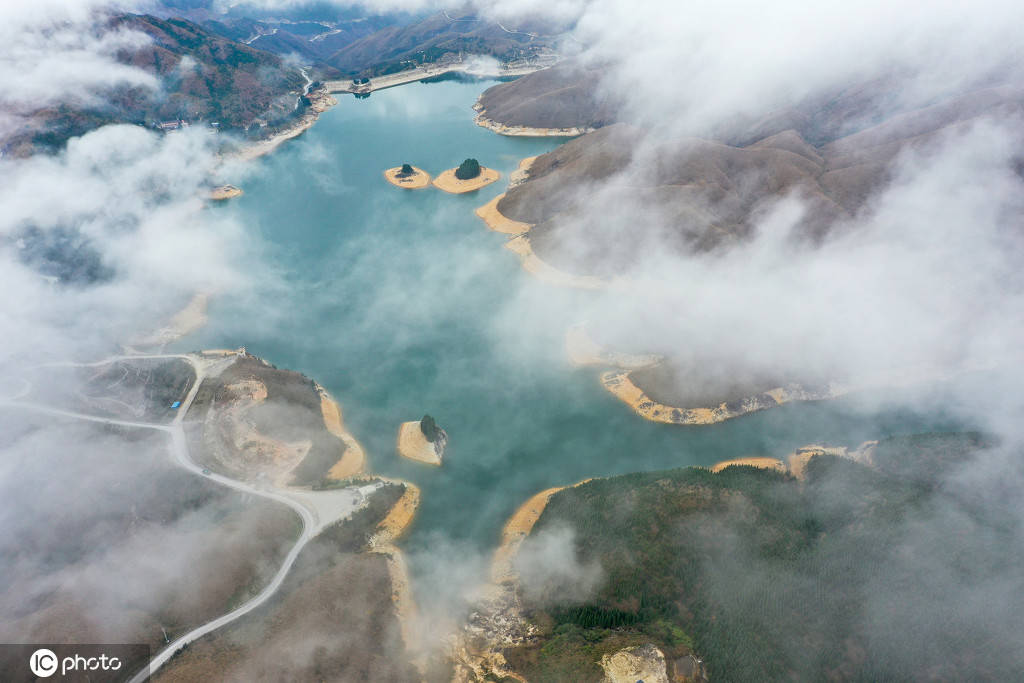
<svg viewBox="0 0 1024 683"><path fill-rule="evenodd" d="M259 592L257 596L246 602L241 607L227 612L217 618L207 622L206 624L197 627L186 633L185 635L172 641L167 647L161 650L153 659L150 660L150 665L135 674L132 677L130 683L141 683L146 678L153 675L158 669L167 664L167 661L177 652L182 646L202 638L208 633L219 629L220 627L230 624L234 620L248 614L252 610L256 609L270 597L278 592L281 585L285 581L285 577L291 570L292 565L295 563L295 558L298 557L299 553L305 547L309 541L319 532L319 530L326 526L339 519L344 514L350 513L352 510L356 509L366 500L367 494L375 489L379 484L368 484L366 486L360 486L358 489L339 489L334 492L324 492L325 496L310 495L306 492L302 492L300 495L296 495L294 498L289 496L284 492L278 492L267 488L257 488L251 486L243 481L238 481L229 477L222 476L216 473L204 474L203 468L197 465L188 457L188 443L185 437L184 431L184 418L188 413L188 409L191 407L193 401L196 399L196 394L199 392L200 386L203 384L203 380L206 379L209 369L216 369L217 366L229 365L233 362L234 356L227 356L221 360L213 361L209 365L197 362L195 356L184 355L184 354L157 354L157 355L117 355L96 362L88 364L77 364L77 362L59 362L59 364L47 364L49 366L79 366L79 367L93 367L101 366L114 360L124 360L124 359L147 359L147 358L182 358L188 361L195 373L196 380L193 382L191 389L188 390L187 395L181 400L181 405L178 408L178 413L174 417L174 420L170 424L157 424L150 422L131 422L127 420L115 420L112 418L103 418L94 415L87 415L84 413L76 413L73 411L62 411L59 409L49 408L47 405L42 405L39 403L24 402L17 400L0 400L0 404L12 407L12 408L24 408L31 411L36 411L40 413L46 413L49 415L57 415L68 418L75 418L79 420L88 420L90 422L100 422L103 424L119 425L123 427L138 427L142 429L156 429L158 431L167 432L171 437L171 455L174 457L174 462L185 468L186 470L199 475L204 476L207 479L216 481L217 483L227 486L228 488L233 488L236 490L243 492L245 494L251 494L253 496L260 496L262 498L269 499L271 501L276 501L283 505L287 505L291 509L298 513L300 519L302 520L302 532L299 535L298 540L295 545L289 551L288 556L285 558L284 563L281 568L278 569L278 573L273 575L273 579L267 584L262 591ZM25 393L25 392L23 392ZM351 505L339 505L337 500L339 497L347 496L351 499ZM316 502L325 498L331 498L329 505L317 505ZM346 510L347 507L347 510ZM329 518L323 518L324 515L321 513L325 510L330 511Z"/></svg>

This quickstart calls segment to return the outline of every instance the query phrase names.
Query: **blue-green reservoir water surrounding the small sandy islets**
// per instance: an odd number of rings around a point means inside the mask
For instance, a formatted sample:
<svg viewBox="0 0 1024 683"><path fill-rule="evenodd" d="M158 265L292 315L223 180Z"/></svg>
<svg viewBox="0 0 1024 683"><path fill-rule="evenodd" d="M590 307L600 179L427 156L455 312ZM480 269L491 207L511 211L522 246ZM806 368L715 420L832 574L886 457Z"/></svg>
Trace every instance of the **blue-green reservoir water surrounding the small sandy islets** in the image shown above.
<svg viewBox="0 0 1024 683"><path fill-rule="evenodd" d="M252 162L245 195L217 211L237 214L252 232L258 296L215 298L209 325L176 345L244 345L323 384L370 470L422 489L401 542L413 551L414 577L422 569L416 551L445 542L487 550L515 508L549 486L950 426L850 399L706 427L635 416L600 387L596 369L565 358L573 302L592 295L532 279L502 249L504 236L473 214L504 191L520 159L563 141L474 125L471 105L489 85L339 95L304 135ZM382 177L404 162L436 174L467 157L504 177L463 196L399 189ZM450 436L440 468L395 453L398 425L424 413Z"/></svg>

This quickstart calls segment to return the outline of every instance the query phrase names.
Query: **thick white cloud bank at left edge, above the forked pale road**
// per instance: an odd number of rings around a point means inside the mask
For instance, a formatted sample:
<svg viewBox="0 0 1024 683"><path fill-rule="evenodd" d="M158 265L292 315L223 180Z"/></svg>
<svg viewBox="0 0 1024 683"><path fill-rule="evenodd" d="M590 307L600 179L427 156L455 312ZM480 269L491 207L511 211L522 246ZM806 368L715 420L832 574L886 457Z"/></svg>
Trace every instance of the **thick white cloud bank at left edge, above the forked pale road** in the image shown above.
<svg viewBox="0 0 1024 683"><path fill-rule="evenodd" d="M117 350L191 294L245 282L242 227L202 209L217 164L207 145L200 132L108 126L54 157L0 161L2 315L19 331L4 361ZM102 276L75 278L82 258Z"/></svg>

